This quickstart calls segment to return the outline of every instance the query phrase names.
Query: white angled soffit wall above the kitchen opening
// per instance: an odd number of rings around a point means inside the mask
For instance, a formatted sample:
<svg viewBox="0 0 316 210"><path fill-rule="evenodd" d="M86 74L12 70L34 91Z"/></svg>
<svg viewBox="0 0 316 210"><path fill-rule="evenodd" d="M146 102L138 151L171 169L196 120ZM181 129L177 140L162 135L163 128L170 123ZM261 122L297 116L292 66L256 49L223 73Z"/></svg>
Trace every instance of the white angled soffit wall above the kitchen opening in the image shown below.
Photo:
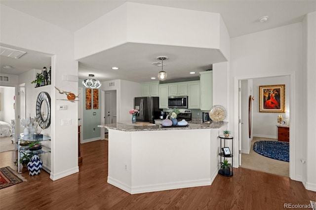
<svg viewBox="0 0 316 210"><path fill-rule="evenodd" d="M127 42L220 49L229 58L220 14L126 2L75 32L75 59Z"/></svg>

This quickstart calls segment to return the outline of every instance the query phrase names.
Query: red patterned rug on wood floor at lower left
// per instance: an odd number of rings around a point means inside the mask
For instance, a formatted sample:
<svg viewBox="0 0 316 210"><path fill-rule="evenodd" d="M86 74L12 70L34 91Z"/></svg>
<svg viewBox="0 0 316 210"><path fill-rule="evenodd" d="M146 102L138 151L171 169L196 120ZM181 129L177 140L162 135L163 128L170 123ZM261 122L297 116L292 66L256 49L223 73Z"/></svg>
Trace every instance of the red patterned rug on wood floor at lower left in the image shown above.
<svg viewBox="0 0 316 210"><path fill-rule="evenodd" d="M10 167L0 168L0 189L26 181Z"/></svg>

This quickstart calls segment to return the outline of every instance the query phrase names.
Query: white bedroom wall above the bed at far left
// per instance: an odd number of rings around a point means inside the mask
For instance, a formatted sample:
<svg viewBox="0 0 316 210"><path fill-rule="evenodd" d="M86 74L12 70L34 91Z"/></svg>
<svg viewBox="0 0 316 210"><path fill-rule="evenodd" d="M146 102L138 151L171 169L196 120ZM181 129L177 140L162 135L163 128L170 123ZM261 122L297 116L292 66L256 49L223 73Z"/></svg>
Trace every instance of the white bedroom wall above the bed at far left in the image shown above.
<svg viewBox="0 0 316 210"><path fill-rule="evenodd" d="M15 103L15 88L0 86L0 94L0 120L11 125L11 120L15 119L13 108L13 104Z"/></svg>

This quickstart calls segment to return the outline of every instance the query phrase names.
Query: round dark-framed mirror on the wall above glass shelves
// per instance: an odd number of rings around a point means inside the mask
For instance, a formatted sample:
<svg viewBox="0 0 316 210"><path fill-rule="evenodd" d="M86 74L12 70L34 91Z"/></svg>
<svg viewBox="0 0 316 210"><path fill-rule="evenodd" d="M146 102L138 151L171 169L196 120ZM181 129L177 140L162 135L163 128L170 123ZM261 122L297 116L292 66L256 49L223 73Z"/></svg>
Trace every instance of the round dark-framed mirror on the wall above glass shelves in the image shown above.
<svg viewBox="0 0 316 210"><path fill-rule="evenodd" d="M50 97L46 92L40 92L36 101L36 117L42 129L50 125Z"/></svg>

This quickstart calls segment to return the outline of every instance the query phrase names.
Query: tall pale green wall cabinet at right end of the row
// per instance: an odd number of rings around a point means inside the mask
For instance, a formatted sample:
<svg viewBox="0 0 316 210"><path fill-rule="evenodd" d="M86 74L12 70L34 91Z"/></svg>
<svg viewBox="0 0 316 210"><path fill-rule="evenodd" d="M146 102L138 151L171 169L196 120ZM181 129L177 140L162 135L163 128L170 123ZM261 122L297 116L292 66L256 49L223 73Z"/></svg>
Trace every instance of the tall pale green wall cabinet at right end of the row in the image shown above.
<svg viewBox="0 0 316 210"><path fill-rule="evenodd" d="M213 106L213 72L200 73L200 109L210 110ZM189 104L190 105L190 104Z"/></svg>

